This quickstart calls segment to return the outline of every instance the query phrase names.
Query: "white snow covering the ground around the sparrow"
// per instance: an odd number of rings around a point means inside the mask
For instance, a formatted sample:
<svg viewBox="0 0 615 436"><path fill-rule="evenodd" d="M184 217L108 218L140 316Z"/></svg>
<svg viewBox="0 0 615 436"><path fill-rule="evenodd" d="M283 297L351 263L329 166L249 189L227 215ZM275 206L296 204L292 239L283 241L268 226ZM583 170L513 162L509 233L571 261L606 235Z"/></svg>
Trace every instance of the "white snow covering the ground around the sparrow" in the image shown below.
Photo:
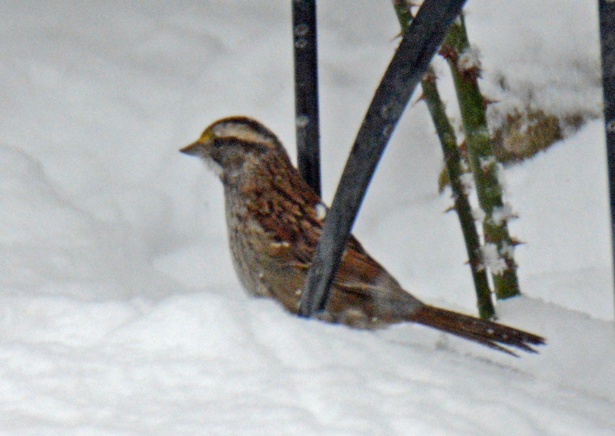
<svg viewBox="0 0 615 436"><path fill-rule="evenodd" d="M399 30L387 1L319 7L330 201ZM600 113L592 2L470 0L467 11L483 87L502 106ZM525 295L498 312L546 336L540 354L414 325L354 331L244 295L220 184L177 152L214 119L245 114L294 155L290 2L0 12L1 435L613 434L600 119L506 171ZM411 104L354 233L417 296L474 312L433 130Z"/></svg>

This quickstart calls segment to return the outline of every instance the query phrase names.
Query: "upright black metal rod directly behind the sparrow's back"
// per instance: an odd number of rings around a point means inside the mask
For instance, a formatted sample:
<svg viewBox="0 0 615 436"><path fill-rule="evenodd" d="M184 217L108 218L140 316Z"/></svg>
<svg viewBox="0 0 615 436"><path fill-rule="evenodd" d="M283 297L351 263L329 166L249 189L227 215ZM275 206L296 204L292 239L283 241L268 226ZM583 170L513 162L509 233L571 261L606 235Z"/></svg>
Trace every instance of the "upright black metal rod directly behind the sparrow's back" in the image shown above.
<svg viewBox="0 0 615 436"><path fill-rule="evenodd" d="M293 0L297 166L320 196L316 1Z"/></svg>

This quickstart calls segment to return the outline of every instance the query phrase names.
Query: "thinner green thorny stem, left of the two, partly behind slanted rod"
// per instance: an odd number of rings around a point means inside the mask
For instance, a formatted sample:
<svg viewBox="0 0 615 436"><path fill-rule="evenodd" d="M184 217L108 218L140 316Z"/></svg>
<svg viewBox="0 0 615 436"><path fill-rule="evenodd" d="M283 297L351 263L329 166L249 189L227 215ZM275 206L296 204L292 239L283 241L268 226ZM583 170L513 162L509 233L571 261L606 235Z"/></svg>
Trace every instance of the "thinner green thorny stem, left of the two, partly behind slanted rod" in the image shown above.
<svg viewBox="0 0 615 436"><path fill-rule="evenodd" d="M412 15L406 0L393 0L393 6L399 23L402 26L402 33L410 21ZM472 207L461 182L461 176L464 174L462 167L462 158L457 147L457 139L455 137L453 126L451 125L440 93L438 92L435 83L435 73L433 68L429 67L427 74L421 80L423 88L423 100L427 103L427 108L434 121L435 130L442 145L442 153L444 155L446 174L450 180L451 190L453 192L454 209L459 218L459 225L466 242L467 255L469 259L470 270L472 271L472 280L474 280L474 288L476 289L478 313L483 319L494 317L493 302L491 301L491 289L485 268L482 266L482 256L480 252L480 237L472 216Z"/></svg>

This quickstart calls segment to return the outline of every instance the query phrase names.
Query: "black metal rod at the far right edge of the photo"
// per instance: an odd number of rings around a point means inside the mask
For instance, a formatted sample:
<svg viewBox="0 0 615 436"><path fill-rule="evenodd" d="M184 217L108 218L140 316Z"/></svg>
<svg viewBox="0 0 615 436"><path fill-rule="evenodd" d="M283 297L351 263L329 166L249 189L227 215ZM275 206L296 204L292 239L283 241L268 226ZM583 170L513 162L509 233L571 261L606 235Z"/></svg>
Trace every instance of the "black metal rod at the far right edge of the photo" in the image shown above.
<svg viewBox="0 0 615 436"><path fill-rule="evenodd" d="M611 200L611 247L615 270L615 3L599 0L598 16L600 17L600 50L602 53L606 163Z"/></svg>

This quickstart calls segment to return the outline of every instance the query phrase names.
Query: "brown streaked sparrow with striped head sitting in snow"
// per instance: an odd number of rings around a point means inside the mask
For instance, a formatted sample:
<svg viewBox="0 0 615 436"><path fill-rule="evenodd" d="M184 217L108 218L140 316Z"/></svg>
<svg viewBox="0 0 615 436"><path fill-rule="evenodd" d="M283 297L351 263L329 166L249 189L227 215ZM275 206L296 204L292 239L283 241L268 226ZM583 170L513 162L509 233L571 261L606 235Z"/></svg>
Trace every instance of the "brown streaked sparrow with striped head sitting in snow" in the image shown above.
<svg viewBox="0 0 615 436"><path fill-rule="evenodd" d="M223 118L182 148L210 164L224 185L226 223L233 263L242 285L296 313L327 209L282 143L250 118ZM544 339L462 313L424 304L350 236L319 318L357 328L412 321L506 351L499 344L534 351Z"/></svg>

